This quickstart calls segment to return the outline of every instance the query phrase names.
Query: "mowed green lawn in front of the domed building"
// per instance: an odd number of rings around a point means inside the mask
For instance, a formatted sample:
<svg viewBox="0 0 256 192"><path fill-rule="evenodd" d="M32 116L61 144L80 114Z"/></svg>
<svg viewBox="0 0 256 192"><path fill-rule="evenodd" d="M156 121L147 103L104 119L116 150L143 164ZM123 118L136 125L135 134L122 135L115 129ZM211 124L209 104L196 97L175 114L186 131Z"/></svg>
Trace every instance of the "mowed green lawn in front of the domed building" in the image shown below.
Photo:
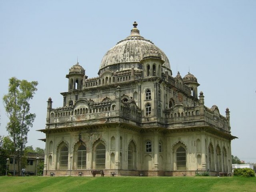
<svg viewBox="0 0 256 192"><path fill-rule="evenodd" d="M256 178L244 177L138 177L138 176L30 176L0 177L0 192L243 192L256 191Z"/></svg>

